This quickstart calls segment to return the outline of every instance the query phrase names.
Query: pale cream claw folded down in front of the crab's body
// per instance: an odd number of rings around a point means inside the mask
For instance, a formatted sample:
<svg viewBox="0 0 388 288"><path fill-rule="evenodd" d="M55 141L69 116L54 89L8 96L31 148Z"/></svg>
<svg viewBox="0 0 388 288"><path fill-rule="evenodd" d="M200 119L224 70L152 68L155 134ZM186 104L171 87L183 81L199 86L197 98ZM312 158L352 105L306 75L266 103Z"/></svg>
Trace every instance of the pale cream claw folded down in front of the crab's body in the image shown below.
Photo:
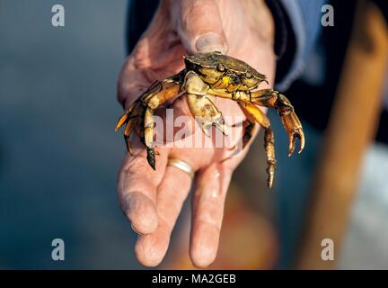
<svg viewBox="0 0 388 288"><path fill-rule="evenodd" d="M208 130L212 125L227 135L228 130L222 112L207 96L208 85L196 73L190 71L185 78L184 89L187 92L190 112L200 122L205 135L210 136Z"/></svg>

